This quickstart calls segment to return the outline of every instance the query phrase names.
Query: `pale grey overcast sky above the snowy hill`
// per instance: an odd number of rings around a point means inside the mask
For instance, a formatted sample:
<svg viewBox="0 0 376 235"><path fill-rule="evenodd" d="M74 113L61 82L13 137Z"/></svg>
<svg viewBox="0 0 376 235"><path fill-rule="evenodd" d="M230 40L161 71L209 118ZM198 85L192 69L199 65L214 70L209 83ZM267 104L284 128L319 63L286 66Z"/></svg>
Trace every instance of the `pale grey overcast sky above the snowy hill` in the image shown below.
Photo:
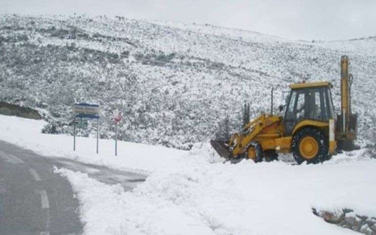
<svg viewBox="0 0 376 235"><path fill-rule="evenodd" d="M376 35L376 0L0 0L0 13L121 15L306 40Z"/></svg>

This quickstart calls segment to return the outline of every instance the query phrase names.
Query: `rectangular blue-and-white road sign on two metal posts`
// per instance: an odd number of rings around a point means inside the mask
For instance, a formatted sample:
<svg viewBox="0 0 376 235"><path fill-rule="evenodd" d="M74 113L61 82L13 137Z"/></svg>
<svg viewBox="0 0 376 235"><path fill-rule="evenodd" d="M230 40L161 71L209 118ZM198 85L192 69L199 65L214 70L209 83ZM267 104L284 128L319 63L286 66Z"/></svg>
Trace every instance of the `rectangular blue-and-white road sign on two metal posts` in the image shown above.
<svg viewBox="0 0 376 235"><path fill-rule="evenodd" d="M87 128L87 119L97 119L97 154L99 143L99 105L89 103L76 103L73 107L74 127L73 127L73 151L76 151L76 127L81 129ZM77 119L77 121L76 121Z"/></svg>

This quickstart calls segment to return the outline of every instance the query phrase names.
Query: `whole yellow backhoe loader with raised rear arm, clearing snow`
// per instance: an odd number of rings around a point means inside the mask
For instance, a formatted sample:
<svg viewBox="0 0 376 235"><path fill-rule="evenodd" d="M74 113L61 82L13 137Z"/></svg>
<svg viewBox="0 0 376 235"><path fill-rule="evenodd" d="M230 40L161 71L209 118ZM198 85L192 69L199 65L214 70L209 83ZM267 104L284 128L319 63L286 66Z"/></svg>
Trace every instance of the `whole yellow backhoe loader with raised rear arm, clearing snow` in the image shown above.
<svg viewBox="0 0 376 235"><path fill-rule="evenodd" d="M229 160L260 162L278 153L293 153L297 163L318 163L344 149L356 148L357 114L351 113L352 75L348 57L341 57L341 114L335 116L333 85L327 81L291 84L283 116L262 114L226 142L211 140L216 152Z"/></svg>

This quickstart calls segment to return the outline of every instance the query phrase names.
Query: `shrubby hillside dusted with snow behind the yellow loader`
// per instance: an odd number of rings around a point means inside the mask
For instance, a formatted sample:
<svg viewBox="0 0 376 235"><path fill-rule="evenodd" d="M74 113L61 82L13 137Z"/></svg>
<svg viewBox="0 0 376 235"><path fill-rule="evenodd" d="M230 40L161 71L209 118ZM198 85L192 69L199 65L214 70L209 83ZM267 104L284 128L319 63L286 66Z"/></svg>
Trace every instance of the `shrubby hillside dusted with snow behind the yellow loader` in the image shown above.
<svg viewBox="0 0 376 235"><path fill-rule="evenodd" d="M269 112L272 87L278 106L287 84L327 79L339 107L346 54L360 142L376 131L375 37L305 42L212 25L0 15L0 54L0 101L43 110L45 132L71 133L72 104L89 101L102 107L103 138L114 135L118 108L120 139L186 149L226 115L236 126L245 100L252 115Z"/></svg>

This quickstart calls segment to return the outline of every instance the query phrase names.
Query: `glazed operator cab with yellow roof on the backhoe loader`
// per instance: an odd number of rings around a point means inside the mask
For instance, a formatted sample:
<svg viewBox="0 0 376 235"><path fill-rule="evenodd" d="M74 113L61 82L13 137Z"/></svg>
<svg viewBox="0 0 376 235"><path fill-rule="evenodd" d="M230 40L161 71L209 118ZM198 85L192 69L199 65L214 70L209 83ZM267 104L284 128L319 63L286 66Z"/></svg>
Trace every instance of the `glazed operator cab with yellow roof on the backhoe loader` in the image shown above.
<svg viewBox="0 0 376 235"><path fill-rule="evenodd" d="M330 82L291 84L283 117L285 135L293 134L294 127L303 120L329 122L334 119Z"/></svg>

